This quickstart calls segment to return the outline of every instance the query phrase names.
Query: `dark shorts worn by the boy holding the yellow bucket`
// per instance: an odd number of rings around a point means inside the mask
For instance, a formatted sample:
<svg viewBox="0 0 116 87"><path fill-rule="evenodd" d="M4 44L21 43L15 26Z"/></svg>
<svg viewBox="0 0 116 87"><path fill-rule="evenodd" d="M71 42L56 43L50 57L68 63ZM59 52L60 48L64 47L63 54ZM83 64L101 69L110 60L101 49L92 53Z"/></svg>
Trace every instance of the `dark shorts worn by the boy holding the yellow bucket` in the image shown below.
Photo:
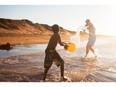
<svg viewBox="0 0 116 87"><path fill-rule="evenodd" d="M53 62L58 66L61 66L64 64L63 59L60 57L60 55L57 53L56 50L46 50L45 51L45 60L44 60L44 68L49 68L53 64Z"/></svg>

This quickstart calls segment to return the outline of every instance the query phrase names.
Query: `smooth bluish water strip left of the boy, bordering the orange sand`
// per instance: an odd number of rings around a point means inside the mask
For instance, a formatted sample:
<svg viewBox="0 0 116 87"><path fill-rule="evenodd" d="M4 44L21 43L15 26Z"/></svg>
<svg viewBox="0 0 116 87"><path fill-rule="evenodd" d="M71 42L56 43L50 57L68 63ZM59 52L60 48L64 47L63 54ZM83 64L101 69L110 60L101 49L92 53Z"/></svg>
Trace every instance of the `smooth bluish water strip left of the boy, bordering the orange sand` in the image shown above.
<svg viewBox="0 0 116 87"><path fill-rule="evenodd" d="M45 50L47 44L30 44L30 45L15 45L13 49L7 50L0 50L0 58L7 58L10 56L16 55L25 55L35 52L41 52Z"/></svg>

